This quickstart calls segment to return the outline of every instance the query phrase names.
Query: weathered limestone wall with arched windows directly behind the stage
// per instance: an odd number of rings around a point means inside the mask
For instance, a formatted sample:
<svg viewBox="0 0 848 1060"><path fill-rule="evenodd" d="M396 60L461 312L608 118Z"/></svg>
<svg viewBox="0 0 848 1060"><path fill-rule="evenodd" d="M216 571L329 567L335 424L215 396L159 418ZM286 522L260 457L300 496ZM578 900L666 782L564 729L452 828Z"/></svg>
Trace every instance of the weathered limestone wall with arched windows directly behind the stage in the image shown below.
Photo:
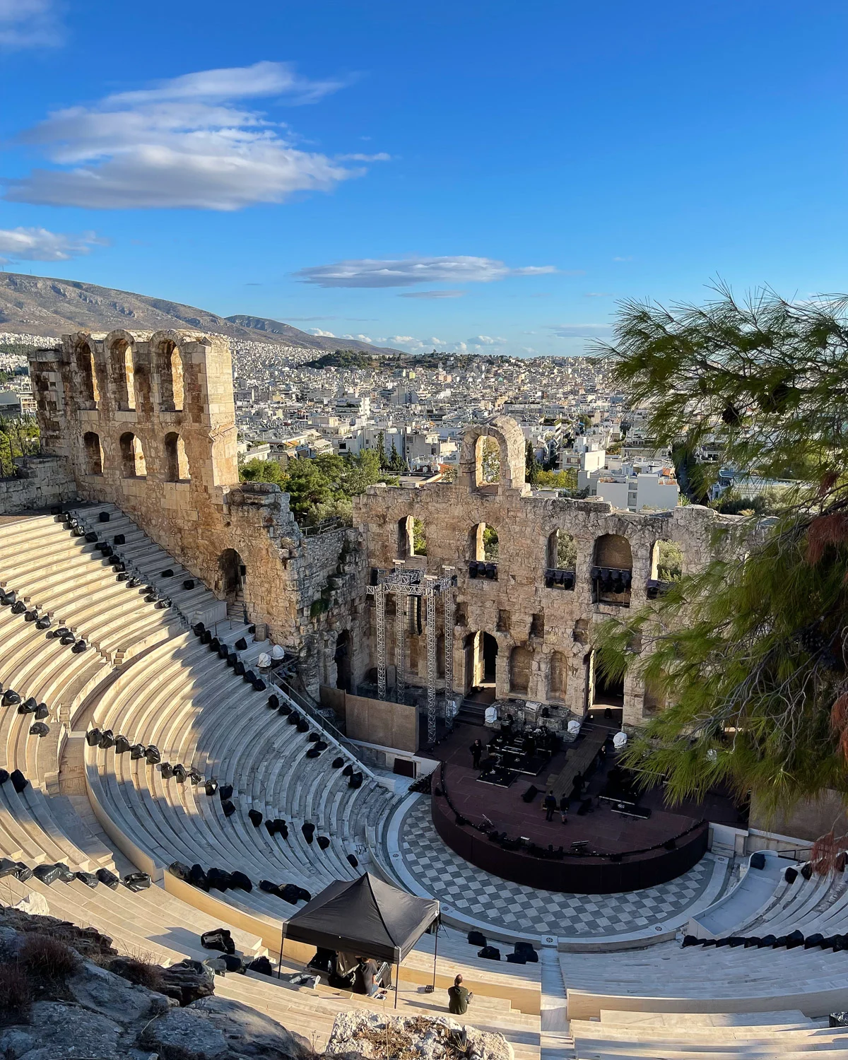
<svg viewBox="0 0 848 1060"><path fill-rule="evenodd" d="M508 473L501 473L499 484L487 484L480 478L477 444L483 436L496 438L501 446L501 469L507 467ZM427 541L427 555L410 559L410 565L425 566L435 576L442 573L443 565L457 570L455 688L467 690L477 683L479 674L471 672L471 652L464 646L476 633L485 632L497 641L499 699L514 696L563 705L577 714L583 714L591 705L590 625L622 613L621 604L593 600L590 571L599 563L599 548L604 547L598 545L599 540L615 535L615 543L620 545L624 540L624 547L629 543L633 569L630 607L637 608L647 599L658 541L676 542L683 551L684 571L696 570L717 547L713 535L718 532L721 538L721 531L736 522L697 506L631 514L614 510L604 501L533 495L524 482L522 432L506 418L467 432L456 483L431 483L411 490L376 485L355 499L354 523L363 534L369 567L391 569L393 562L403 558L399 524L408 517L422 520ZM469 576L469 563L478 558L475 528L480 524L494 527L498 533L497 581ZM577 544L573 589L545 585L545 570L550 566L549 537L556 530L571 534ZM368 615L364 634L373 666L373 607ZM442 632L441 625L438 632ZM390 617L386 640L387 658L393 661L394 621ZM416 674L423 677L425 673L423 640L414 633L408 640L410 683L416 683ZM644 689L629 676L624 684L624 721L640 724L643 716Z"/></svg>

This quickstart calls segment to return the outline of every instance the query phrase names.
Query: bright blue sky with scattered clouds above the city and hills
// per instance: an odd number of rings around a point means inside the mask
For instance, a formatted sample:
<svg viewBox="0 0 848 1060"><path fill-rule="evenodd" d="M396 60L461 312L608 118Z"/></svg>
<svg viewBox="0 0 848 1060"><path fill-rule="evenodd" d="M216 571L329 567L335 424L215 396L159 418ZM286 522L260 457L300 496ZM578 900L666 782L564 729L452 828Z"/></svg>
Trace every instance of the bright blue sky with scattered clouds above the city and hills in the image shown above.
<svg viewBox="0 0 848 1060"><path fill-rule="evenodd" d="M845 290L848 7L0 0L0 258L409 350Z"/></svg>

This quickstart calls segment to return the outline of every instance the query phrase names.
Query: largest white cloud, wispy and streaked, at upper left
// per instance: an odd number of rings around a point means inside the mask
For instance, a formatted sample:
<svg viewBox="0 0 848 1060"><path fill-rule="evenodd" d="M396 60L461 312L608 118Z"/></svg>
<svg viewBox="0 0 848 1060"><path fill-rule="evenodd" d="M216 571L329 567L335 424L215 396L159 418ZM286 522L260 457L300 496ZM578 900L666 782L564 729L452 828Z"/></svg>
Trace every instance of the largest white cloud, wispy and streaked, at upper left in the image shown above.
<svg viewBox="0 0 848 1060"><path fill-rule="evenodd" d="M61 167L6 180L5 198L88 209L238 210L328 190L364 170L294 147L284 126L233 101L314 102L339 85L308 82L284 63L257 63L55 111L20 139Z"/></svg>

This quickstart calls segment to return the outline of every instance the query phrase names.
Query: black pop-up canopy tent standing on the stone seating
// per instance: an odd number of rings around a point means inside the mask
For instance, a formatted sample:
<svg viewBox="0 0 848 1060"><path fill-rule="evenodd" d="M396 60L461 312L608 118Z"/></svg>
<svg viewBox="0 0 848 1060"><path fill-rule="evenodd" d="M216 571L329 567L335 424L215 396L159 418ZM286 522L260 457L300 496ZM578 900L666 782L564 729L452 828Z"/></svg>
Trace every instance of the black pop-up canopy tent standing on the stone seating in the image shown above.
<svg viewBox="0 0 848 1060"><path fill-rule="evenodd" d="M436 924L439 903L416 898L384 883L370 872L358 880L336 880L283 923L282 959L286 938L337 952L356 953L398 966L394 1004L401 961L425 931ZM434 954L434 985L436 955Z"/></svg>

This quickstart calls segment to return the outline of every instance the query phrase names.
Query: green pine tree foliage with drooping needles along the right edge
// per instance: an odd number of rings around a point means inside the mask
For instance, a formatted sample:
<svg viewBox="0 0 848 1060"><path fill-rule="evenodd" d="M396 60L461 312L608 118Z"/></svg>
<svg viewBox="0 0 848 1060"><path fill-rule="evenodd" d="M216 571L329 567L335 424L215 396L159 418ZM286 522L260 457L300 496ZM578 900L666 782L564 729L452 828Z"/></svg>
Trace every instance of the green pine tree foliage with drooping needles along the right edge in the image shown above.
<svg viewBox="0 0 848 1060"><path fill-rule="evenodd" d="M630 302L607 352L660 443L719 434L726 464L796 483L770 519L723 520L705 569L601 626L602 672L670 704L629 763L676 799L718 781L772 810L848 796L848 298Z"/></svg>

